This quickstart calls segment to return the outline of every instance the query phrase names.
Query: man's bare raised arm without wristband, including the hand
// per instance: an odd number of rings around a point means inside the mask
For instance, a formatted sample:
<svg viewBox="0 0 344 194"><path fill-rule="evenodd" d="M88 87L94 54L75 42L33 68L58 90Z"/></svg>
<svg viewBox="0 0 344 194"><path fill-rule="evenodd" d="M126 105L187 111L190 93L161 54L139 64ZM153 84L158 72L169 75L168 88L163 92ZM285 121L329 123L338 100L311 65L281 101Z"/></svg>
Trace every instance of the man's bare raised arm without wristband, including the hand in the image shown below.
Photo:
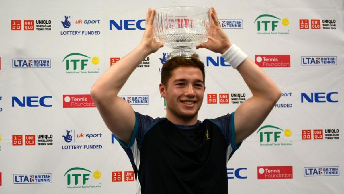
<svg viewBox="0 0 344 194"><path fill-rule="evenodd" d="M149 54L154 53L163 44L156 42L153 35L155 10L146 14L146 30L138 47L112 65L93 84L91 96L106 126L125 145L131 139L135 126L135 113L131 105L117 96L131 73Z"/></svg>

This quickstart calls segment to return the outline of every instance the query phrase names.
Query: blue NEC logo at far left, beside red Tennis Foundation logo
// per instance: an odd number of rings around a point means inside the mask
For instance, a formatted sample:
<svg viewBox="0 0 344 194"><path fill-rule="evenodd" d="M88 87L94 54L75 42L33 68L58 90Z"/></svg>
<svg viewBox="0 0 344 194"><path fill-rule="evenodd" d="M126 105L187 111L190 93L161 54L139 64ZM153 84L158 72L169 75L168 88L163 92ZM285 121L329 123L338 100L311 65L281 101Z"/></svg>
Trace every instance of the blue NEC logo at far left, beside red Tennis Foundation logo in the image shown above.
<svg viewBox="0 0 344 194"><path fill-rule="evenodd" d="M47 104L46 99L47 98L52 98L52 96L23 96L23 100L20 100L19 98L12 96L12 107L14 107L14 102L18 104L20 107L38 107L38 106L43 106L43 107L52 107L53 105ZM26 102L26 103L25 103Z"/></svg>

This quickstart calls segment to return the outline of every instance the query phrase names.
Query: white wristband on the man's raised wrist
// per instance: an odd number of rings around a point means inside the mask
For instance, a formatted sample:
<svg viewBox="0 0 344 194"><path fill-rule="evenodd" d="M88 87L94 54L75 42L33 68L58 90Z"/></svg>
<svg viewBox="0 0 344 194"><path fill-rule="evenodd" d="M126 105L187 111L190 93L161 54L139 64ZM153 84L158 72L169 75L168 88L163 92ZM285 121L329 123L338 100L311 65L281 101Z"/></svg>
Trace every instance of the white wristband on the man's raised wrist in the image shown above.
<svg viewBox="0 0 344 194"><path fill-rule="evenodd" d="M228 61L232 68L236 69L247 58L247 54L235 44L232 44L232 46L222 54L222 57Z"/></svg>

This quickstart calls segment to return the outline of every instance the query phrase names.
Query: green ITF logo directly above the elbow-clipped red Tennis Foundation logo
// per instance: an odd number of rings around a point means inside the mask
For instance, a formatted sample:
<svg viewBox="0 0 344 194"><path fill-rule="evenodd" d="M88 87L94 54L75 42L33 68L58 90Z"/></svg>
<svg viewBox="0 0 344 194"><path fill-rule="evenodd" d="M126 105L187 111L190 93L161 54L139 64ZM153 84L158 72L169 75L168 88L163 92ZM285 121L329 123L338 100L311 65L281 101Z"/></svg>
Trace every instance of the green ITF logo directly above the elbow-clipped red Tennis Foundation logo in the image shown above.
<svg viewBox="0 0 344 194"><path fill-rule="evenodd" d="M63 58L62 62L66 63L66 73L73 74L98 74L97 65L100 62L99 57L95 56L91 59L92 64L88 62L90 57L81 53L69 53Z"/></svg>

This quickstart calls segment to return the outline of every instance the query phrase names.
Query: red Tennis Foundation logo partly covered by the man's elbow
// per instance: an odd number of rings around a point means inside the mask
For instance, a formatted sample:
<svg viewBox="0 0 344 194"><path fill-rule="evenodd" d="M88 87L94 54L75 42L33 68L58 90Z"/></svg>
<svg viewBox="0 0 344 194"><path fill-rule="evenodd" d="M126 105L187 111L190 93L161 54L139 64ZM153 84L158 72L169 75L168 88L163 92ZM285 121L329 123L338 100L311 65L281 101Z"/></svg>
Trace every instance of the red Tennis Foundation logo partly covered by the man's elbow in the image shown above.
<svg viewBox="0 0 344 194"><path fill-rule="evenodd" d="M93 102L90 94L66 94L63 95L63 108L93 108L96 104Z"/></svg>

